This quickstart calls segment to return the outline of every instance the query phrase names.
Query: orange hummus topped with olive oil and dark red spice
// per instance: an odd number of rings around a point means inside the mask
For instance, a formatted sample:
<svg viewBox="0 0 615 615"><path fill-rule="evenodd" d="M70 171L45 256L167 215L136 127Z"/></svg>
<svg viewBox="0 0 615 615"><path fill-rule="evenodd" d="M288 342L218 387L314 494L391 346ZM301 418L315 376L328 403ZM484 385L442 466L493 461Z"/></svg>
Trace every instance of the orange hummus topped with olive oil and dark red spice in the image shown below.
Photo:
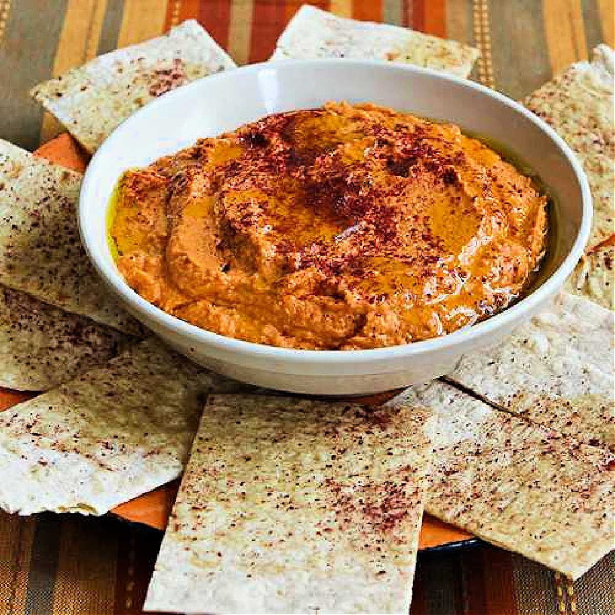
<svg viewBox="0 0 615 615"><path fill-rule="evenodd" d="M450 124L330 103L264 117L121 178L128 284L260 344L361 349L498 312L536 271L546 197Z"/></svg>

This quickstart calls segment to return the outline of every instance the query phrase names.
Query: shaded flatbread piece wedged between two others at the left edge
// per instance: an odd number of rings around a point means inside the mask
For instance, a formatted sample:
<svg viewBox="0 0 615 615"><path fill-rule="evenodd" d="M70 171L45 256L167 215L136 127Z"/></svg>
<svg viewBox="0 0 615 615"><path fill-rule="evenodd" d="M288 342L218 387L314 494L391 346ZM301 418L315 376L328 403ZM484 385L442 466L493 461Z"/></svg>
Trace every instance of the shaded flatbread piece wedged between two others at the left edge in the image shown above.
<svg viewBox="0 0 615 615"><path fill-rule="evenodd" d="M131 339L0 286L0 387L47 391L105 363Z"/></svg>

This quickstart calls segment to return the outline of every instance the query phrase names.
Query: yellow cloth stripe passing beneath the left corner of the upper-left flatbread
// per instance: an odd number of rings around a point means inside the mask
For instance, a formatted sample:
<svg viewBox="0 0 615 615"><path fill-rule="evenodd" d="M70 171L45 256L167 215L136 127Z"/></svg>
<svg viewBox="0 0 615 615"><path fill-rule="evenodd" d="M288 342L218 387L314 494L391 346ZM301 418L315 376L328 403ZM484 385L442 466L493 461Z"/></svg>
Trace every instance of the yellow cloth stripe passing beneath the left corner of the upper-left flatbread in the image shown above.
<svg viewBox="0 0 615 615"><path fill-rule="evenodd" d="M95 57L106 4L106 0L68 0L52 76L57 77ZM63 132L60 123L50 113L45 113L41 122L41 143L60 132Z"/></svg>

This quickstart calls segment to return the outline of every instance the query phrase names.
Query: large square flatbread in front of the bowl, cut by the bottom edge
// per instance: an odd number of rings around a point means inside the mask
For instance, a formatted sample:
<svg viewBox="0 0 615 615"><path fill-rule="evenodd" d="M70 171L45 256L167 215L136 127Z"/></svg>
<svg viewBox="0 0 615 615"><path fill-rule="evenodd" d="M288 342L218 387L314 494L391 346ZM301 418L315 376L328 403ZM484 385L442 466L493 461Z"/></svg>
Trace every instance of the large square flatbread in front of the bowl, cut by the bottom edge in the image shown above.
<svg viewBox="0 0 615 615"><path fill-rule="evenodd" d="M210 395L145 609L408 613L428 416Z"/></svg>

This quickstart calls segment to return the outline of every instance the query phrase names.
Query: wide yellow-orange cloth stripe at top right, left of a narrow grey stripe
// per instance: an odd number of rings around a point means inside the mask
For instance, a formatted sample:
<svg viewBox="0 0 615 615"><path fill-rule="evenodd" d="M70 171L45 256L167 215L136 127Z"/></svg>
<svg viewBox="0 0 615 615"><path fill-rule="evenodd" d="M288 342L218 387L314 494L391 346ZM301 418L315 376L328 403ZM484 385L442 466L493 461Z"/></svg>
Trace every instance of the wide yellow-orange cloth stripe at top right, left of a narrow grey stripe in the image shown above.
<svg viewBox="0 0 615 615"><path fill-rule="evenodd" d="M542 0L544 32L554 74L587 58L581 0Z"/></svg>

